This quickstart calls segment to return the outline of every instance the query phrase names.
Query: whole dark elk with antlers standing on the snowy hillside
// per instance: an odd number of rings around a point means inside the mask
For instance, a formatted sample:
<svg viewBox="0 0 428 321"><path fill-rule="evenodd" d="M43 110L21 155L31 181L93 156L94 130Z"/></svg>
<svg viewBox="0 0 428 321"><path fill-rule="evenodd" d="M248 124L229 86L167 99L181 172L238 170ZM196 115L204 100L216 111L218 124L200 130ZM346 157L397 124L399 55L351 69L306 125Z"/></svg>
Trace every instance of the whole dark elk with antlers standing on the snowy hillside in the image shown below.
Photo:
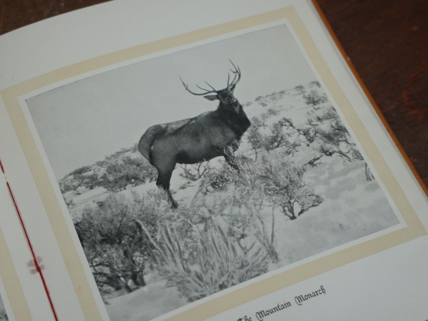
<svg viewBox="0 0 428 321"><path fill-rule="evenodd" d="M226 88L218 91L205 82L212 90L196 85L205 92L194 93L181 80L184 88L191 94L204 96L208 100L219 100L216 110L193 118L149 127L140 138L138 149L150 164L158 169L156 185L168 192L173 207L177 207L177 203L169 191L169 181L176 163L195 164L224 156L226 161L236 168L230 150L238 149L242 135L250 127L250 121L242 105L233 96L235 85L241 79L241 70L235 65L233 67L235 70L231 69L234 76L232 82L229 83L228 75Z"/></svg>

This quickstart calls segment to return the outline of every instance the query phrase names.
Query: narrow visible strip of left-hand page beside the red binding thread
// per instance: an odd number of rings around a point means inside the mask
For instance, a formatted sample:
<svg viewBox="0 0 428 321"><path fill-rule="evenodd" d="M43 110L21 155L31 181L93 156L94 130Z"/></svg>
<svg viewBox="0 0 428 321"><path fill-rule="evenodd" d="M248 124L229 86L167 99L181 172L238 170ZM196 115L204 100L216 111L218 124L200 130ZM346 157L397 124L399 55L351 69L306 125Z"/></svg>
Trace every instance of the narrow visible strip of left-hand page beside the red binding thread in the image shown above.
<svg viewBox="0 0 428 321"><path fill-rule="evenodd" d="M3 146L9 142L2 139ZM2 149L1 156L5 155L4 151ZM3 166L3 162L1 165ZM4 167L1 169L5 170ZM42 279L16 211L15 205L21 207L22 200L14 200L15 197L11 194L18 185L16 181L9 184L6 180L7 173L8 170L5 170L4 174L3 171L0 173L0 319L54 320ZM37 259L39 268L44 270L46 262L40 256L37 256Z"/></svg>

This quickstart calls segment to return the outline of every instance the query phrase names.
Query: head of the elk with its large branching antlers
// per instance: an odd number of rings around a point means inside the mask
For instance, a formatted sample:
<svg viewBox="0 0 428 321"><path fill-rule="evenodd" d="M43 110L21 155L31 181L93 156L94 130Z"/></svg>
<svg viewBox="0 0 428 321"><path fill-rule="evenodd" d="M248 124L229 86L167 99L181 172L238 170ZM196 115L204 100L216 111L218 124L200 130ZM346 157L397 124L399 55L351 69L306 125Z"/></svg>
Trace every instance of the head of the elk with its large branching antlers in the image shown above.
<svg viewBox="0 0 428 321"><path fill-rule="evenodd" d="M190 94L197 95L197 96L204 96L204 98L208 99L208 100L220 100L220 106L219 107L223 107L225 109L228 109L228 110L231 110L231 111L238 113L240 104L239 104L238 100L233 96L233 90L235 89L235 85L241 79L241 70L239 69L239 66L235 66L230 59L229 59L229 61L232 64L233 68L235 68L235 70L230 69L230 71L232 71L232 74L233 74L232 82L230 82L229 72L227 73L227 86L224 89L216 90L213 86L211 86L208 82L205 81L205 83L212 90L205 89L205 88L200 87L199 85L196 85L196 87L198 87L199 89L205 90L205 92L198 94L198 93L191 91L189 89L188 85L186 85L184 83L184 81L181 79L181 77L180 77L180 80L183 83L184 88L186 88L186 90L188 92L190 92ZM215 95L207 95L207 94L213 94L213 93Z"/></svg>

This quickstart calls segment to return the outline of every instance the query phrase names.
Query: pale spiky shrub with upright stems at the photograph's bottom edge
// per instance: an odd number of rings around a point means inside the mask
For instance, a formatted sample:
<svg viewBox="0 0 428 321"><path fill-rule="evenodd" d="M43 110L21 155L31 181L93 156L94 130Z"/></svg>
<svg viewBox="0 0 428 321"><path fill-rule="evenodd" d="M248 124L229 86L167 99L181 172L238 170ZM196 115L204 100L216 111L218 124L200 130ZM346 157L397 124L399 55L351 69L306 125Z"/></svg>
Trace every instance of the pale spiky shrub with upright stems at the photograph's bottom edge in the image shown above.
<svg viewBox="0 0 428 321"><path fill-rule="evenodd" d="M160 227L155 236L142 227L159 253L161 274L190 302L267 272L261 248L243 253L220 224L204 233L193 226L193 242L184 242L175 227Z"/></svg>

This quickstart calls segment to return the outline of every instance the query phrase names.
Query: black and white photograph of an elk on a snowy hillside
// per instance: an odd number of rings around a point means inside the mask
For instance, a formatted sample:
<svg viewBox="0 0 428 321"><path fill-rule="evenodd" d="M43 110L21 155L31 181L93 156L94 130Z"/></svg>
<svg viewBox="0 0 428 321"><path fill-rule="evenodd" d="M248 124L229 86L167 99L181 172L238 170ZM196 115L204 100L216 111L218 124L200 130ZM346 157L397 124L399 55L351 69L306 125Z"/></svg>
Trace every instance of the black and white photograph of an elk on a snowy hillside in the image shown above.
<svg viewBox="0 0 428 321"><path fill-rule="evenodd" d="M112 321L400 223L286 25L26 103Z"/></svg>

